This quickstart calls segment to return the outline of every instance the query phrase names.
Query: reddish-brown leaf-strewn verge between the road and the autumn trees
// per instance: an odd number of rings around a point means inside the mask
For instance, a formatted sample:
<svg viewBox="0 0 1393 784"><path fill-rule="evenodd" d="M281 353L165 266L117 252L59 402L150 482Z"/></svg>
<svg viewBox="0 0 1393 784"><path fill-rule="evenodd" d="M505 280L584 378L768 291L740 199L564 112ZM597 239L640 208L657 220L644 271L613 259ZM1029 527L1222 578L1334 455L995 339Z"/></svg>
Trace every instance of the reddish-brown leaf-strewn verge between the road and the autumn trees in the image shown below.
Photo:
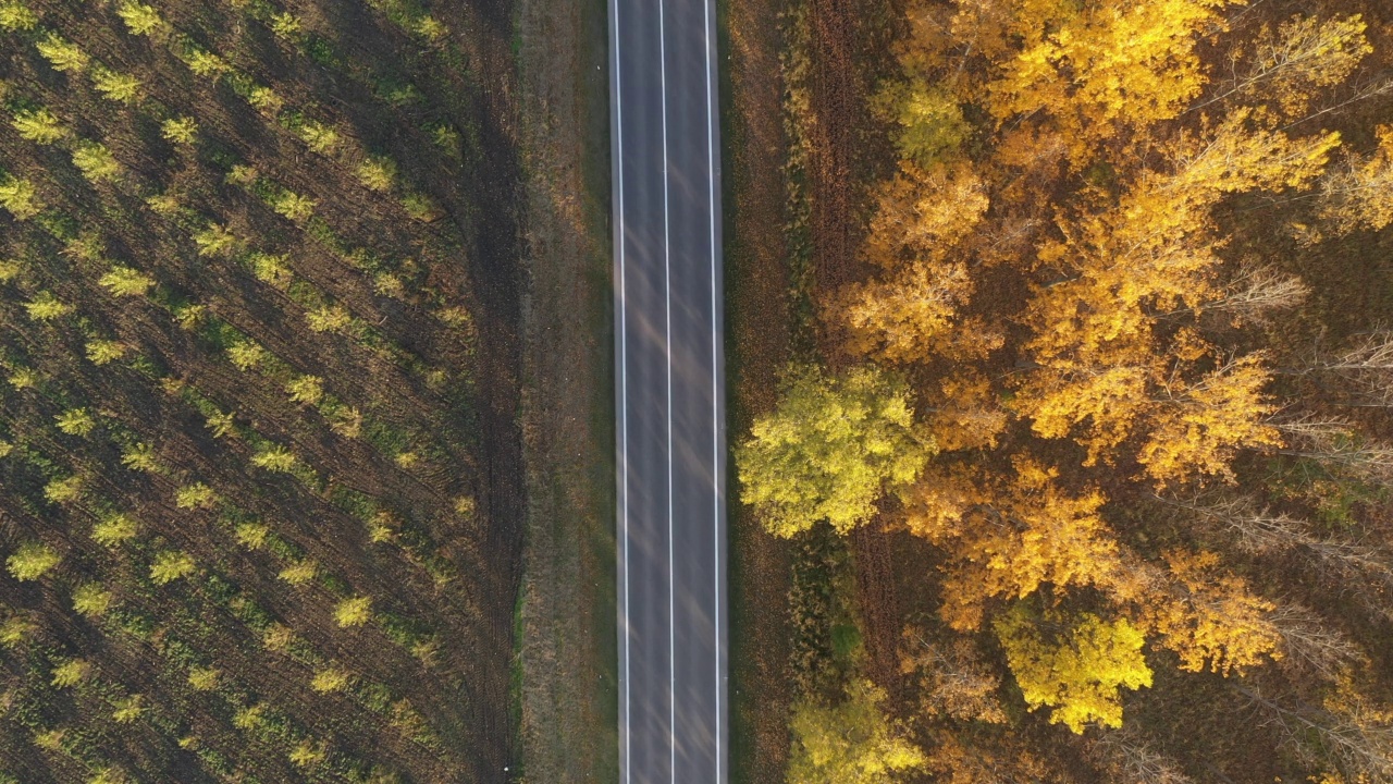
<svg viewBox="0 0 1393 784"><path fill-rule="evenodd" d="M727 63L722 138L733 439L773 406L795 321L787 237L770 230L788 223L781 13L781 0L720 4ZM762 784L783 780L788 753L791 545L761 530L730 478L731 774L738 783Z"/></svg>

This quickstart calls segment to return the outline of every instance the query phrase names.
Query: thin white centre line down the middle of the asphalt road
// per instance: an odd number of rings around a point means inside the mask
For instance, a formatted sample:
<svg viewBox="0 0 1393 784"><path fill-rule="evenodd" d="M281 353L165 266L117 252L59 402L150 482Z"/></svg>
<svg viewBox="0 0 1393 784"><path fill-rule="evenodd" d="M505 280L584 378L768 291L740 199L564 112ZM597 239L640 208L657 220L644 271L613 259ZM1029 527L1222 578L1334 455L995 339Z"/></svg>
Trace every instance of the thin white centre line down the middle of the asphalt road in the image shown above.
<svg viewBox="0 0 1393 784"><path fill-rule="evenodd" d="M657 0L659 84L663 91L663 299L666 307L667 353L667 767L677 784L677 578L673 571L673 272L671 246L667 239L667 22L663 0Z"/></svg>

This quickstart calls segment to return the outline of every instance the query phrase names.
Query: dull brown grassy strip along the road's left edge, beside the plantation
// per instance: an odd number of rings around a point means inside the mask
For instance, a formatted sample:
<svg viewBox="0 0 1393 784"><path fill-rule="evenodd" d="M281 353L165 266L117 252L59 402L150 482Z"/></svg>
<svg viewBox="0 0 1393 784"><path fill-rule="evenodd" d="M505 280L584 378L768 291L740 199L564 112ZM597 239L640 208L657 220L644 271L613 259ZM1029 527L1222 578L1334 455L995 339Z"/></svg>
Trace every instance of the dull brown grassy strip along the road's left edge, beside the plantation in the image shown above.
<svg viewBox="0 0 1393 784"><path fill-rule="evenodd" d="M617 777L605 4L521 0L528 515L514 663L521 776Z"/></svg>

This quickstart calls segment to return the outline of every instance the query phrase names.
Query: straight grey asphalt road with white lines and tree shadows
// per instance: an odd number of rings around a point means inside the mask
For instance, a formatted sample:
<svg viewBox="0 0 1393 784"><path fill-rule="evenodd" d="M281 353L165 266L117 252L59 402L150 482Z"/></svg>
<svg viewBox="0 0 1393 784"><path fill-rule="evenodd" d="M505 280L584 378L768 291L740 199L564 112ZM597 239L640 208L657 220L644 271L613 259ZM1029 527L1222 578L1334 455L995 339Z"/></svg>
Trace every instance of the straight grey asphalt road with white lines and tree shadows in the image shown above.
<svg viewBox="0 0 1393 784"><path fill-rule="evenodd" d="M727 780L715 0L610 0L621 784Z"/></svg>

